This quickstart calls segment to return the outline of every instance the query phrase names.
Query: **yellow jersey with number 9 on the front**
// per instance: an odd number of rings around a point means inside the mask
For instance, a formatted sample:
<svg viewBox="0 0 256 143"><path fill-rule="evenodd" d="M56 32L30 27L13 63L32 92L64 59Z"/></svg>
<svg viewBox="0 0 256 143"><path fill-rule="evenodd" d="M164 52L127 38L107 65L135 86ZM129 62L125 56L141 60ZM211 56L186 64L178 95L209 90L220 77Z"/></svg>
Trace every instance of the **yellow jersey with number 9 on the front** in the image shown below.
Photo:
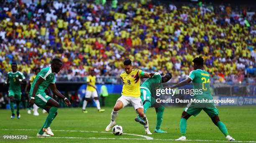
<svg viewBox="0 0 256 143"><path fill-rule="evenodd" d="M133 69L130 74L121 73L120 78L123 80L122 95L140 97L140 77L142 75L144 75L144 72L140 69Z"/></svg>

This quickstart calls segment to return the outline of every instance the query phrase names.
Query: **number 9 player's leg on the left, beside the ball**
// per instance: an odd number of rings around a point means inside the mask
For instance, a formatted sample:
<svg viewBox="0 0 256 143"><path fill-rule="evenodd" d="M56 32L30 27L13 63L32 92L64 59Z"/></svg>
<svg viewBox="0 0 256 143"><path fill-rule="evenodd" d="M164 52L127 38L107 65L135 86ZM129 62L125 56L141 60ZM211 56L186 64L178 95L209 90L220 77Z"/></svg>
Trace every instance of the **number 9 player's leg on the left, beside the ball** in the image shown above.
<svg viewBox="0 0 256 143"><path fill-rule="evenodd" d="M118 111L121 108L127 106L129 103L130 102L128 101L127 96L123 96L123 95L116 101L115 106L114 106L114 108L113 108L113 110L111 112L110 124L106 127L105 131L108 132L108 131L111 130L111 128L113 126L115 126L115 119L118 116Z"/></svg>

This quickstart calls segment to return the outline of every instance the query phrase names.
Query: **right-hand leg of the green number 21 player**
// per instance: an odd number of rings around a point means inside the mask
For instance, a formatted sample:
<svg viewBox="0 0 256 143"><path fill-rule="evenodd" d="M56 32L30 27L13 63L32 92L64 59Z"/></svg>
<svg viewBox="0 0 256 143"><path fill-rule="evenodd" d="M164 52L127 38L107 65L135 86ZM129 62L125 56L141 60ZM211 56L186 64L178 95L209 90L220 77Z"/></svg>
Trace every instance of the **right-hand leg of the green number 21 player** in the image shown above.
<svg viewBox="0 0 256 143"><path fill-rule="evenodd" d="M203 110L208 114L208 116L212 119L212 122L220 129L220 131L223 133L223 135L226 137L228 141L235 141L234 138L229 136L225 124L222 121L220 121L217 108L204 108Z"/></svg>

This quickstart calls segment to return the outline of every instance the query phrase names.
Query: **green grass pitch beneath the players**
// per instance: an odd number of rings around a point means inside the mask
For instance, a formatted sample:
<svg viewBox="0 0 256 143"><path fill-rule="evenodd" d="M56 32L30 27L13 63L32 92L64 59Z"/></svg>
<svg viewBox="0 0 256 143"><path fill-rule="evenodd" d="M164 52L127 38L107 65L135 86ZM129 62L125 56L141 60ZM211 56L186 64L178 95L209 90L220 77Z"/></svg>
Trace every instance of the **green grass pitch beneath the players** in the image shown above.
<svg viewBox="0 0 256 143"><path fill-rule="evenodd" d="M143 126L134 121L136 113L132 107L125 107L119 111L117 124L123 126L122 136L114 136L112 131L105 132L110 123L112 108L105 107L104 113L97 113L96 108L87 108L88 113L82 113L81 108L59 108L58 116L51 124L54 138L36 138L48 115L39 109L40 116L28 114L27 110L20 111L21 118L10 119L10 110L0 110L0 142L28 142L28 143L60 143L60 142L92 142L92 143L172 143L180 137L179 119L183 108L165 108L161 129L168 133L153 133L156 126L154 108L148 109L146 116L153 135L145 135ZM236 141L253 141L256 143L256 106L218 107L220 120L225 123L228 132ZM24 129L24 130L23 130ZM130 135L133 134L133 135ZM3 139L4 135L27 135L27 140ZM146 140L143 135L153 138ZM219 131L207 114L202 111L197 117L190 117L187 121L188 143L223 142L225 136ZM200 141L195 141L200 140Z"/></svg>

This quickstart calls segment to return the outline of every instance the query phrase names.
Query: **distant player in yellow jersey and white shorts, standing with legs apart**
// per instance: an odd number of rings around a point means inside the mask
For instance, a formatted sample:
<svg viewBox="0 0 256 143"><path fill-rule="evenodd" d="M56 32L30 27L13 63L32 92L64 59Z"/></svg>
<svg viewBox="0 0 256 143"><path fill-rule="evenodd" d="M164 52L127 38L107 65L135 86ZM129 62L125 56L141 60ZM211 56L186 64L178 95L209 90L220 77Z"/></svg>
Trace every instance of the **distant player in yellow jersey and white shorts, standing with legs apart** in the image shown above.
<svg viewBox="0 0 256 143"><path fill-rule="evenodd" d="M96 83L96 76L94 75L93 69L89 69L89 76L87 76L87 88L86 88L86 95L83 103L83 113L87 113L85 110L87 102L90 100L90 98L93 98L93 101L95 102L98 112L104 112L105 109L100 109L100 101L98 99L98 94L97 94L97 88L95 86Z"/></svg>

